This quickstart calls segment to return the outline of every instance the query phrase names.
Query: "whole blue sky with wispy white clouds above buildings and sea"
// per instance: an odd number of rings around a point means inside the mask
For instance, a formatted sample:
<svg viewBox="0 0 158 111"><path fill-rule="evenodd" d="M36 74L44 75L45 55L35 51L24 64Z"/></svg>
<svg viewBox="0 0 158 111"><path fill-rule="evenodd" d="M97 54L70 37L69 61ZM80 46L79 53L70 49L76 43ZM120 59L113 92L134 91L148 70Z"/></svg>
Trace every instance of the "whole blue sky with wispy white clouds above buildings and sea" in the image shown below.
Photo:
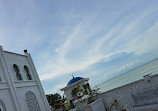
<svg viewBox="0 0 158 111"><path fill-rule="evenodd" d="M0 45L31 53L46 94L158 58L158 0L0 0Z"/></svg>

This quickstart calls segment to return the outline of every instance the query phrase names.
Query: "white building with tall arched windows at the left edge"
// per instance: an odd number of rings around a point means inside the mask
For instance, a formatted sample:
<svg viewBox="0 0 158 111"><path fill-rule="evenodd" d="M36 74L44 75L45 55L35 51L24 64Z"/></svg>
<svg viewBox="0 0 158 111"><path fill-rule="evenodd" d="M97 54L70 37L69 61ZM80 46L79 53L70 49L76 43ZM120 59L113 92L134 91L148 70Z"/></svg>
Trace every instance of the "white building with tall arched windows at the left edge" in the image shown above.
<svg viewBox="0 0 158 111"><path fill-rule="evenodd" d="M0 46L0 111L50 111L29 53Z"/></svg>

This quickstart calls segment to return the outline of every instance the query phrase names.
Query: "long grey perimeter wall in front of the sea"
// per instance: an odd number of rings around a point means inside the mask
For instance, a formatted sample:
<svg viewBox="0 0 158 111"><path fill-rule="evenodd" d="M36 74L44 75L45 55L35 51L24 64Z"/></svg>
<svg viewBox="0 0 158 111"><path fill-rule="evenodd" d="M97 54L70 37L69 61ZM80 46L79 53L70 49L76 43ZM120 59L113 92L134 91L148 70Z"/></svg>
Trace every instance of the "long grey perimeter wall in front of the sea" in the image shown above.
<svg viewBox="0 0 158 111"><path fill-rule="evenodd" d="M151 111L158 109L158 74L103 92L99 95L110 111Z"/></svg>

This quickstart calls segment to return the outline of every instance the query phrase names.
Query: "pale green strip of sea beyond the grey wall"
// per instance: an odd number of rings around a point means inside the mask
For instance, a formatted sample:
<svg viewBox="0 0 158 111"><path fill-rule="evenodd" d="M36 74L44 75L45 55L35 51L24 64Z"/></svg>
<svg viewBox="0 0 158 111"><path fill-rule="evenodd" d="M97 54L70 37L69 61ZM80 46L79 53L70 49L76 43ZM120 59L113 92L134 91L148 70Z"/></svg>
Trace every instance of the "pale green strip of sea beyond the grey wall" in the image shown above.
<svg viewBox="0 0 158 111"><path fill-rule="evenodd" d="M143 76L147 74L158 74L158 59L132 69L111 80L105 81L104 83L99 84L97 87L100 88L101 92L105 92L123 86L125 84L143 79Z"/></svg>

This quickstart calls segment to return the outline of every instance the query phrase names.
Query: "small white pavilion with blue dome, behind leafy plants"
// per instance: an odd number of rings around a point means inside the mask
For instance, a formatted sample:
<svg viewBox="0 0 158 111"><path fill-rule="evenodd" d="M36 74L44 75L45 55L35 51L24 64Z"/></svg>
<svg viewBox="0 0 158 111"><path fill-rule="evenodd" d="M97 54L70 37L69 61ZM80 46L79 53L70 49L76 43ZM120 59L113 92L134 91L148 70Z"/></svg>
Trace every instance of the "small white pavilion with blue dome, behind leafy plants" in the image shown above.
<svg viewBox="0 0 158 111"><path fill-rule="evenodd" d="M83 85L88 83L89 78L82 78L82 77L73 77L67 84L66 87L62 88L61 91L64 91L64 94L66 95L66 99L68 101L68 104L70 104L70 101L73 100L73 96L71 95L71 92L74 88L77 88L78 86L84 90Z"/></svg>

